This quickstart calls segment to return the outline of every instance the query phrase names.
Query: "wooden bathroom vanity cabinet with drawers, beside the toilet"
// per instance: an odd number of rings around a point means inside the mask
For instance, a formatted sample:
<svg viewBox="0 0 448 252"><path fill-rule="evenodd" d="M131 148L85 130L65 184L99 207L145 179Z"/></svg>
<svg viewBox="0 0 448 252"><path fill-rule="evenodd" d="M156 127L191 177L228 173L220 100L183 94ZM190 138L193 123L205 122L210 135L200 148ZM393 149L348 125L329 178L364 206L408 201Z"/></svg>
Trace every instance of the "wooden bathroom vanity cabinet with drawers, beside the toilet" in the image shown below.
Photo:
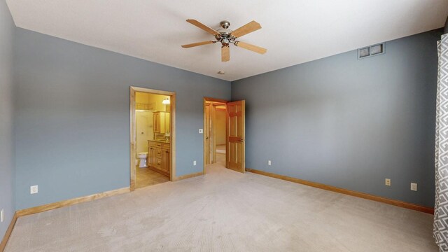
<svg viewBox="0 0 448 252"><path fill-rule="evenodd" d="M169 144L160 141L148 141L148 167L155 172L169 176L171 167Z"/></svg>

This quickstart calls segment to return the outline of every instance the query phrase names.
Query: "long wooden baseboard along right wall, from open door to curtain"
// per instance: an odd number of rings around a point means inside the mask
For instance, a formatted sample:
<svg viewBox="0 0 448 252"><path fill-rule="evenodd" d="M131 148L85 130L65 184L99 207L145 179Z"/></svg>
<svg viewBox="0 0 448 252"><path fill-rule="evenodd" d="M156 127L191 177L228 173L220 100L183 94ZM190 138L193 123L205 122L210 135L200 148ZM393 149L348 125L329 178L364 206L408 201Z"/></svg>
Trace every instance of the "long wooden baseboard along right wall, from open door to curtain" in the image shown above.
<svg viewBox="0 0 448 252"><path fill-rule="evenodd" d="M347 190L347 189L344 189L344 188L337 188L335 186L328 186L328 185L325 185L325 184L322 184L322 183L305 181L303 179L296 179L296 178L293 178L293 177L290 177L290 176L283 176L283 175L279 175L279 174L273 174L273 173L270 173L270 172L263 172L263 171L260 171L260 170L257 170L257 169L248 169L248 168L246 168L246 171L252 172L252 173L255 173L255 174L264 175L264 176L269 176L269 177L272 177L272 178L275 178L275 179L283 179L285 181L290 181L290 182L294 182L294 183L300 183L300 184L305 185L305 186L312 186L314 188L320 188L320 189L323 189L323 190L330 190L330 191L335 192L335 193L342 193L342 194L345 194L345 195L351 195L351 196L355 196L355 197L360 197L360 198L363 198L363 199L366 199L366 200L373 200L373 201L376 201L376 202L382 202L382 203L386 203L386 204L391 204L391 205L396 206L396 207L403 207L405 209L412 209L412 210L416 210L416 211L421 211L421 212L426 213L426 214L434 214L434 209L433 208L423 207L423 206L418 205L418 204L402 202L400 200L391 200L391 199L388 199L388 198L385 198L385 197L379 197L379 196L370 195L370 194L367 194L367 193L360 193L360 192L356 192L356 191L353 191L353 190Z"/></svg>

